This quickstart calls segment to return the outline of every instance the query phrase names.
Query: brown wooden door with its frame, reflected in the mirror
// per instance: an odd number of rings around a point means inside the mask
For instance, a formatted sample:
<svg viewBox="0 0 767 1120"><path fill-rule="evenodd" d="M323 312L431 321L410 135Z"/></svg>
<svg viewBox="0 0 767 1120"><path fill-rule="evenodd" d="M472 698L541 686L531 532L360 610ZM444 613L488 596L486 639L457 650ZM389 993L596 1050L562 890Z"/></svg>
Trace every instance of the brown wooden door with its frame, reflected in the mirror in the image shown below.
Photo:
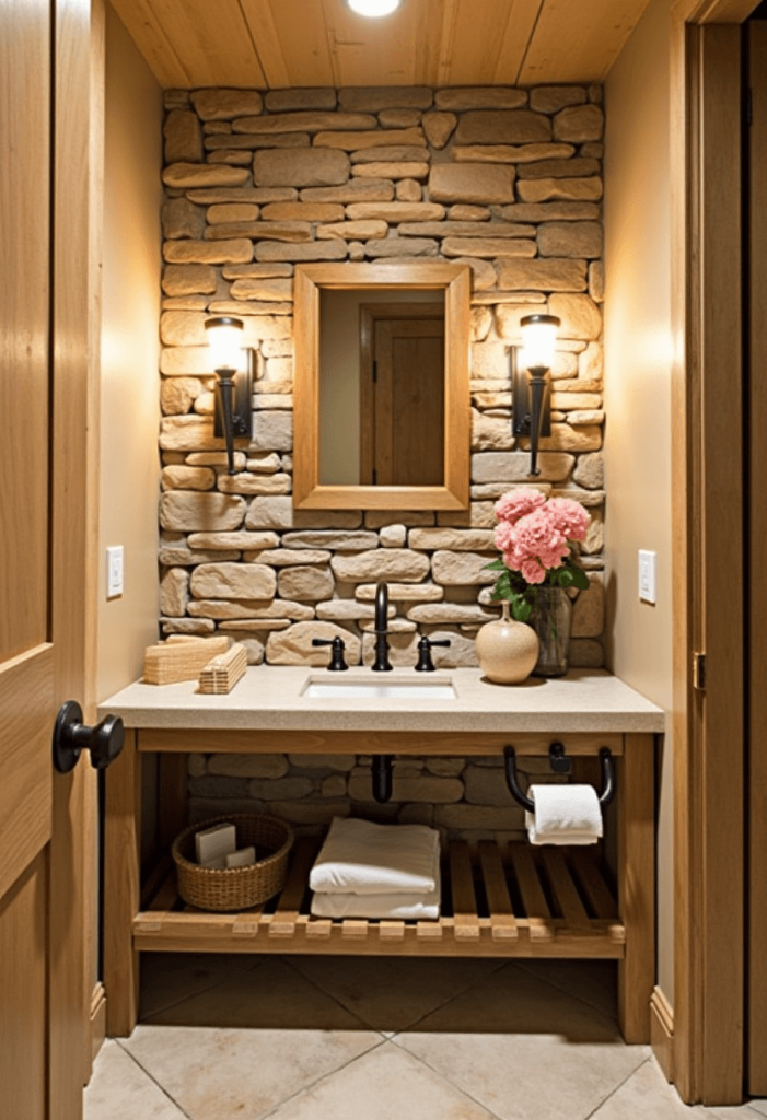
<svg viewBox="0 0 767 1120"><path fill-rule="evenodd" d="M423 307L423 305L421 305ZM421 317L422 316L422 317ZM372 367L362 363L361 482L377 486L445 483L445 316L373 314ZM363 352L364 353L364 352Z"/></svg>

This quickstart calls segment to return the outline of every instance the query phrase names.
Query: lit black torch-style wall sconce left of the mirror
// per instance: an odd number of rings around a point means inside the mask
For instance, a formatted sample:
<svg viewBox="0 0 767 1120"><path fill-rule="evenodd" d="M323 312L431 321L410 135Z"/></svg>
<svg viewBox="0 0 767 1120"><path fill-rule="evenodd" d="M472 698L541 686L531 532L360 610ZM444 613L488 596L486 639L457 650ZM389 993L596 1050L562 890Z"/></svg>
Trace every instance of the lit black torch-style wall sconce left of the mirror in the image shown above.
<svg viewBox="0 0 767 1120"><path fill-rule="evenodd" d="M226 461L233 475L234 440L253 436L253 351L242 345L242 319L222 315L206 319L205 329L218 377L213 430L226 440Z"/></svg>

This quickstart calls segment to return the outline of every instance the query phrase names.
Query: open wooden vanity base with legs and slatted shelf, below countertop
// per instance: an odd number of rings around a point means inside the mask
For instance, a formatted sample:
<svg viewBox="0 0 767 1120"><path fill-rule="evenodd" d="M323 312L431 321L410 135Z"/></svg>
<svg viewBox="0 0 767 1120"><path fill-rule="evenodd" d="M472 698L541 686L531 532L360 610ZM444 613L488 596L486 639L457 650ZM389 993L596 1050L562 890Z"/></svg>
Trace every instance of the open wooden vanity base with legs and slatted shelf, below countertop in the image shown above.
<svg viewBox="0 0 767 1120"><path fill-rule="evenodd" d="M245 744L237 731L206 732L204 747L190 738L195 732L183 738L166 729L129 730L107 775L104 982L110 1035L130 1035L135 1026L140 953L166 951L612 959L619 962L624 1038L649 1042L655 982L653 735L462 734L442 736L439 750L436 736L381 736L392 754L401 755L493 755L503 752L504 743L513 743L521 754L545 756L550 741L561 739L569 755L590 756L591 766L601 745L609 745L616 756L616 889L604 868L601 846L533 848L483 841L470 848L453 841L443 856L441 917L433 922L310 916L308 877L317 841L306 839L296 844L282 892L263 907L207 914L185 905L168 855L174 836L187 823L183 744L186 750L258 753L303 746L317 752L320 740L328 752L359 749L359 736L348 736L347 743L344 732L271 732L263 745L252 734ZM159 857L141 884L141 764L153 756L159 771Z"/></svg>

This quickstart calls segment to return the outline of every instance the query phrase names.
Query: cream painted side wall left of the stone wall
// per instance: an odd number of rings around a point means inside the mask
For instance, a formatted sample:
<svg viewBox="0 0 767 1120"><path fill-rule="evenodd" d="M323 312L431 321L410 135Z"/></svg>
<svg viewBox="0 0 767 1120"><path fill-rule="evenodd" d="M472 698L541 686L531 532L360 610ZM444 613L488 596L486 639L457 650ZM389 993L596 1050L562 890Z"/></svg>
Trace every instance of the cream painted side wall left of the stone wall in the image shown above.
<svg viewBox="0 0 767 1120"><path fill-rule="evenodd" d="M106 7L99 698L134 680L157 640L162 96ZM107 545L124 594L106 600Z"/></svg>

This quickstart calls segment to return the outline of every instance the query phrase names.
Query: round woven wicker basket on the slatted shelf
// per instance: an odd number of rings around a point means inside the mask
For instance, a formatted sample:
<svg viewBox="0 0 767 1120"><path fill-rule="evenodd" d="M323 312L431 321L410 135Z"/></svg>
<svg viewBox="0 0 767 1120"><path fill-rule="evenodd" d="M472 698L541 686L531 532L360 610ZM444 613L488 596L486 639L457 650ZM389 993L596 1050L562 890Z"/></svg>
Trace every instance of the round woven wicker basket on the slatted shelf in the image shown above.
<svg viewBox="0 0 767 1120"><path fill-rule="evenodd" d="M255 855L266 852L249 867L217 871L194 862L195 833L214 824L234 824L237 847L255 844ZM178 893L184 902L205 911L238 911L272 898L284 886L293 830L278 816L230 813L191 824L174 840L171 855L178 872Z"/></svg>

